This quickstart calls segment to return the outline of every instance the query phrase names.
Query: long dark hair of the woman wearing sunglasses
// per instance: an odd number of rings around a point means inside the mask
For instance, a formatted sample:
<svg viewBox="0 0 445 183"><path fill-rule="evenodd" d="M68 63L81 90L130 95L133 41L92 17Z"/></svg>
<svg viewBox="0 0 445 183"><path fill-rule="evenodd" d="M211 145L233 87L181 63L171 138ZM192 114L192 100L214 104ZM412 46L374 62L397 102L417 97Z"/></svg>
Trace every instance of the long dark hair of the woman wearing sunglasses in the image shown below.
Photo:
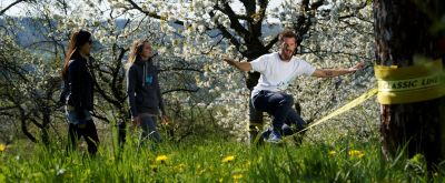
<svg viewBox="0 0 445 183"><path fill-rule="evenodd" d="M67 55L65 57L62 79L67 79L69 61L80 57L79 48L86 43L90 43L91 33L85 30L75 31L71 35L70 42L67 49Z"/></svg>

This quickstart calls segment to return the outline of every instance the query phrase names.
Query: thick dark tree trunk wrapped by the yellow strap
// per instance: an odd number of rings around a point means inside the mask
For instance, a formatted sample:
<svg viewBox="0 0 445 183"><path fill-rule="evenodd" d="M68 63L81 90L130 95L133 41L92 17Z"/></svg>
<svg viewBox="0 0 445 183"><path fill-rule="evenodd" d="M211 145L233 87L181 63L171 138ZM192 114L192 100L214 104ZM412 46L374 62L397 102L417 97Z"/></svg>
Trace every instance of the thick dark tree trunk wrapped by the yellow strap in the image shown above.
<svg viewBox="0 0 445 183"><path fill-rule="evenodd" d="M444 14L441 0L374 0L376 62L380 65L413 65L414 55L444 57L439 50L443 30L433 24ZM408 156L425 155L428 166L444 160L444 98L380 105L382 150L388 160L406 145Z"/></svg>

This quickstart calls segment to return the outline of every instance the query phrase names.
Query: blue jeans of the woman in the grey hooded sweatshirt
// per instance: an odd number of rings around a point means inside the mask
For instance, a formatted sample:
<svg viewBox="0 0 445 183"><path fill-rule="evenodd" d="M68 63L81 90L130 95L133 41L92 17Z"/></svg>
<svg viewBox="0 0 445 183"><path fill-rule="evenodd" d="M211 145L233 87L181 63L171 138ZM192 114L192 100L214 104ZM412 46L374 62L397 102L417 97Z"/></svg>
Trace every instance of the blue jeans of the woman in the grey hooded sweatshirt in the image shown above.
<svg viewBox="0 0 445 183"><path fill-rule="evenodd" d="M161 142L160 134L156 128L156 115L141 113L139 114L141 119L142 133L140 134L140 142L144 143L147 139L155 142Z"/></svg>

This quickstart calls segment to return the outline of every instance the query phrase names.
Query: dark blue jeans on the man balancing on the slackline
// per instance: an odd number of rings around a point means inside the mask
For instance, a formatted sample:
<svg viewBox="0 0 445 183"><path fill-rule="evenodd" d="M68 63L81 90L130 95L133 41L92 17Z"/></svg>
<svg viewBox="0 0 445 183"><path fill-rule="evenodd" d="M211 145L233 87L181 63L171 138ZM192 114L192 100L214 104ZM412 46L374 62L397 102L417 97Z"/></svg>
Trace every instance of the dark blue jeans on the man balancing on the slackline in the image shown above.
<svg viewBox="0 0 445 183"><path fill-rule="evenodd" d="M284 124L295 124L298 130L306 126L306 122L293 108L294 98L289 94L261 90L251 100L256 110L267 112L273 116L273 131L281 132Z"/></svg>

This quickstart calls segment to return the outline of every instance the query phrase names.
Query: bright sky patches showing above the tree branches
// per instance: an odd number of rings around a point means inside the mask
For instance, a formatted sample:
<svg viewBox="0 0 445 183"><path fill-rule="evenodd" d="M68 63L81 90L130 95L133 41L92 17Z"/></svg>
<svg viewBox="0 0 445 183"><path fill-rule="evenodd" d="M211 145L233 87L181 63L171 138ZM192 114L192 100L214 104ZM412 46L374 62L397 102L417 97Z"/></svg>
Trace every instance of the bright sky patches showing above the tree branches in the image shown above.
<svg viewBox="0 0 445 183"><path fill-rule="evenodd" d="M7 6L11 4L16 0L0 0L0 9L6 8ZM278 7L284 0L270 0L268 9L274 9ZM23 11L21 11L24 8L26 3L19 3L9 9L6 14L8 16L24 16ZM238 11L241 9L243 4L239 1L236 1L231 4L231 7L235 9L235 11Z"/></svg>

